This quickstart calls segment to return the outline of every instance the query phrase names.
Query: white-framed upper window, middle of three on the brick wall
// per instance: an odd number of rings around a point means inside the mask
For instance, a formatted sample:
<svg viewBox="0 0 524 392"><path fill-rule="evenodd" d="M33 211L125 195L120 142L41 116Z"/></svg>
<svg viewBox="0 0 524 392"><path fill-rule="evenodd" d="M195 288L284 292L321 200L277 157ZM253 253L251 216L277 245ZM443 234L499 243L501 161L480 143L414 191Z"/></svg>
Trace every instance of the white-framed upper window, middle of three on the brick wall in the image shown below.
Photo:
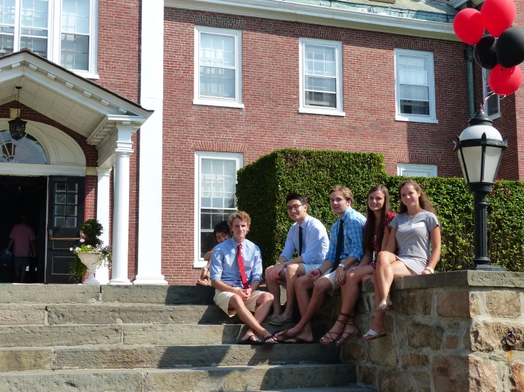
<svg viewBox="0 0 524 392"><path fill-rule="evenodd" d="M299 113L345 116L342 42L300 38L299 57Z"/></svg>

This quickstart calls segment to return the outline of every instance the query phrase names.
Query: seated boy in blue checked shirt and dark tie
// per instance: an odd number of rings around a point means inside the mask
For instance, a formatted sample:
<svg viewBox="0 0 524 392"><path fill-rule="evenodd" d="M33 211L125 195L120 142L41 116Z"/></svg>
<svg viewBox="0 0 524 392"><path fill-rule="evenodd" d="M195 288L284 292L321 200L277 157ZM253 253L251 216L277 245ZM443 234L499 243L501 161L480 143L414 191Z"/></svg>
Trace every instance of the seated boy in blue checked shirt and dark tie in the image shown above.
<svg viewBox="0 0 524 392"><path fill-rule="evenodd" d="M362 236L366 218L352 209L353 193L345 186L337 185L330 189L329 200L331 211L338 219L331 226L328 253L317 270L296 279L295 292L301 319L294 328L275 333L279 342L313 342L311 319L322 307L325 294L333 294L345 283L345 271L358 263L364 253Z"/></svg>

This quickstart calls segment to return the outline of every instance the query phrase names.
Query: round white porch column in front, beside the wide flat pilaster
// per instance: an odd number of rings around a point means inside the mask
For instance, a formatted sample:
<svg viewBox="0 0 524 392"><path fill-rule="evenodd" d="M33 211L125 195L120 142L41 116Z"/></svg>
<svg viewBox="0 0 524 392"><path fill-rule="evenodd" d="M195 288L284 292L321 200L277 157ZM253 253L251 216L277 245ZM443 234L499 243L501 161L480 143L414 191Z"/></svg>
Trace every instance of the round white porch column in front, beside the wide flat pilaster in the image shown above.
<svg viewBox="0 0 524 392"><path fill-rule="evenodd" d="M130 284L128 279L129 157L133 149L131 149L131 130L119 125L117 129L113 199L113 271L110 284Z"/></svg>

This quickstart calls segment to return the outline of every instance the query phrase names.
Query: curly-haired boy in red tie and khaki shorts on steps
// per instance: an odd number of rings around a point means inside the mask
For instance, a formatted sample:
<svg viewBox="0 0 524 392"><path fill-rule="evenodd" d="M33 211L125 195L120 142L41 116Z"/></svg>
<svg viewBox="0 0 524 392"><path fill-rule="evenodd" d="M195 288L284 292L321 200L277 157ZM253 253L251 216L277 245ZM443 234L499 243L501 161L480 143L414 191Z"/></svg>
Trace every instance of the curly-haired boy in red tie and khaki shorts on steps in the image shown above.
<svg viewBox="0 0 524 392"><path fill-rule="evenodd" d="M274 344L277 340L260 325L271 309L273 296L257 290L262 282L262 258L258 246L245 238L250 224L251 218L246 212L231 214L228 225L233 238L219 243L213 250L211 285L216 289L213 301L230 317L238 313L240 320L247 324L249 329L241 343Z"/></svg>

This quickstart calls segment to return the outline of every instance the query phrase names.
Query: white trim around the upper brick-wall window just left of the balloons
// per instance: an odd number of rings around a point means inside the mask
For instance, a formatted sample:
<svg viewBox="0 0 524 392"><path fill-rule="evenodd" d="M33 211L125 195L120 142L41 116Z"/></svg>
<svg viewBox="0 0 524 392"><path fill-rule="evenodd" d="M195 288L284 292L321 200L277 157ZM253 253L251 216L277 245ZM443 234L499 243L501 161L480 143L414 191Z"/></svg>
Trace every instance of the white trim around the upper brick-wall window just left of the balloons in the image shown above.
<svg viewBox="0 0 524 392"><path fill-rule="evenodd" d="M433 52L421 52L420 50L407 50L407 49L395 49L395 120L396 121L409 121L409 122L425 122L429 124L438 124L437 120L437 109L435 104L435 67L433 63ZM399 54L416 55L420 57L428 58L429 68L429 88L430 88L430 115L406 115L401 114L400 110L400 96L399 96L399 85L398 85L398 67L397 59Z"/></svg>

